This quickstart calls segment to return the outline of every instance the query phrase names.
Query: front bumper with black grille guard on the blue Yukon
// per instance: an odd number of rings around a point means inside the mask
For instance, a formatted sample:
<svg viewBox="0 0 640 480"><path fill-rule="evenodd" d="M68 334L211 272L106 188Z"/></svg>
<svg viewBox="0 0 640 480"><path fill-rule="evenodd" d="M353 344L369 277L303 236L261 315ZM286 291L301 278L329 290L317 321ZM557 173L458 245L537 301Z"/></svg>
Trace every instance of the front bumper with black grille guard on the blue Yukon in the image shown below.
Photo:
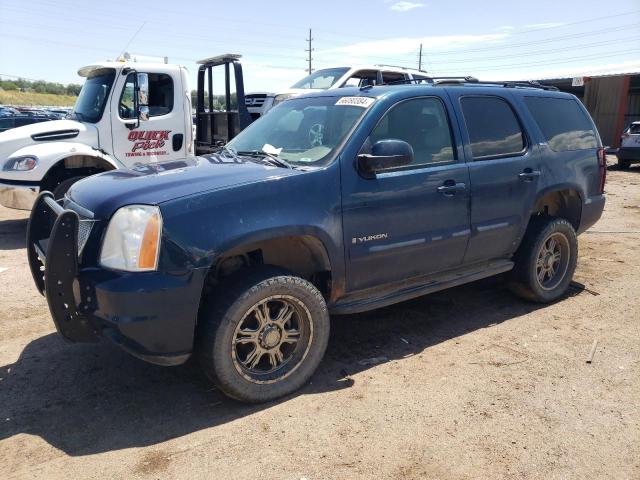
<svg viewBox="0 0 640 480"><path fill-rule="evenodd" d="M58 333L71 342L108 338L159 365L184 363L193 351L207 269L168 274L80 267L79 221L44 192L27 228L31 273Z"/></svg>

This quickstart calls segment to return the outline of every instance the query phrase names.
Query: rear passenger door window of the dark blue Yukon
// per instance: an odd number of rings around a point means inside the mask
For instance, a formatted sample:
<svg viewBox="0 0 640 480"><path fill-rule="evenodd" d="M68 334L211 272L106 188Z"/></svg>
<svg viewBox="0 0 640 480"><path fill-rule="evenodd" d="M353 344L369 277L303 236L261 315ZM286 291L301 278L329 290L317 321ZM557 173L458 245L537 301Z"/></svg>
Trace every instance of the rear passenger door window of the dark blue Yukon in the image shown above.
<svg viewBox="0 0 640 480"><path fill-rule="evenodd" d="M460 104L474 160L515 156L524 152L524 132L505 100L498 97L463 97Z"/></svg>

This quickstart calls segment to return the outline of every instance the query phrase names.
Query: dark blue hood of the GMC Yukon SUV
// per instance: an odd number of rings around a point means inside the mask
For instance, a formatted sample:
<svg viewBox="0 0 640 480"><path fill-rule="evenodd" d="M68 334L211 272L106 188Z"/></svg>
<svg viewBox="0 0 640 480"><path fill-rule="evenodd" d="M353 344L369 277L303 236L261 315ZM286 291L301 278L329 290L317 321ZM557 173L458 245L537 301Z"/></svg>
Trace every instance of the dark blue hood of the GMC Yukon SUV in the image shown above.
<svg viewBox="0 0 640 480"><path fill-rule="evenodd" d="M208 155L93 175L74 184L67 196L93 212L96 219L102 219L111 217L125 205L159 205L180 197L247 183L278 181L301 173L249 159Z"/></svg>

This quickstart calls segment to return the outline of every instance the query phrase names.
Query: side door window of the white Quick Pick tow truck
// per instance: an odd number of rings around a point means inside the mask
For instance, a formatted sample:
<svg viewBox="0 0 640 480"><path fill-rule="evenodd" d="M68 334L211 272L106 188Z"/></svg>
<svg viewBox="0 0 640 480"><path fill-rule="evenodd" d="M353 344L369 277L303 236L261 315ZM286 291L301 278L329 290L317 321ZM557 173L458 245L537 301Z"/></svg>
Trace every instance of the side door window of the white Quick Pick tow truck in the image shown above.
<svg viewBox="0 0 640 480"><path fill-rule="evenodd" d="M135 73L127 76L127 81L122 89L118 113L120 118L130 120L137 118L134 108ZM173 110L173 79L164 73L149 74L149 116L158 117L166 115Z"/></svg>

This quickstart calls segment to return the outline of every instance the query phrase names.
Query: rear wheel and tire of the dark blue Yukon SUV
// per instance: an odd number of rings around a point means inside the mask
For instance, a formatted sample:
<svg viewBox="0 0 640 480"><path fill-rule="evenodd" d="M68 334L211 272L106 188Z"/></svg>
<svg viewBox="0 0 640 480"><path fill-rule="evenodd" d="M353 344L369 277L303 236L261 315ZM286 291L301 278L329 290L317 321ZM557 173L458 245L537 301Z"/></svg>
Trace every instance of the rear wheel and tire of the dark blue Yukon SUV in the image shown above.
<svg viewBox="0 0 640 480"><path fill-rule="evenodd" d="M553 251L549 248L551 245ZM576 231L564 218L532 217L514 260L509 281L511 291L533 302L553 302L566 293L576 270Z"/></svg>

